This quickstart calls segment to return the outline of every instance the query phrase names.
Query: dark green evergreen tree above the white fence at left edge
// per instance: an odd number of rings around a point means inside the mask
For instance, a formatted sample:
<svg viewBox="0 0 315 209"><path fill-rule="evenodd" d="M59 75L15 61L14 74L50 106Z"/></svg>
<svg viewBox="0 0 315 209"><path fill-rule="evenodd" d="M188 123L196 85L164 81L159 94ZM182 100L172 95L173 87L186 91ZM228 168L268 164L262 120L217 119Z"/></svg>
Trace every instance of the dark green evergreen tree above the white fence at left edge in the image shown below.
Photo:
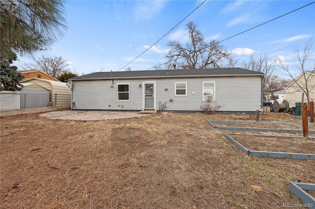
<svg viewBox="0 0 315 209"><path fill-rule="evenodd" d="M20 81L24 76L17 71L18 67L12 65L17 59L14 52L10 56L0 56L0 90L14 91L21 90L23 85Z"/></svg>

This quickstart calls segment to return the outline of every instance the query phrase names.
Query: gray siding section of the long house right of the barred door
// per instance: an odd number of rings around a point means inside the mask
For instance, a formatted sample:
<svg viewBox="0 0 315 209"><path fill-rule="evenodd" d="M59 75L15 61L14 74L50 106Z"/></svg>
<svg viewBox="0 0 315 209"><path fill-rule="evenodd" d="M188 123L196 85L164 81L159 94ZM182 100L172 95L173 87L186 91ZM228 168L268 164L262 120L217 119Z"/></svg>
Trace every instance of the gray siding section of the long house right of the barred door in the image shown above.
<svg viewBox="0 0 315 209"><path fill-rule="evenodd" d="M187 82L187 96L175 96L175 82ZM157 109L201 111L202 83L215 82L215 101L220 111L256 111L261 109L261 77L181 78L157 80ZM165 91L167 88L167 91ZM194 94L193 94L194 93ZM173 102L169 102L172 99Z"/></svg>

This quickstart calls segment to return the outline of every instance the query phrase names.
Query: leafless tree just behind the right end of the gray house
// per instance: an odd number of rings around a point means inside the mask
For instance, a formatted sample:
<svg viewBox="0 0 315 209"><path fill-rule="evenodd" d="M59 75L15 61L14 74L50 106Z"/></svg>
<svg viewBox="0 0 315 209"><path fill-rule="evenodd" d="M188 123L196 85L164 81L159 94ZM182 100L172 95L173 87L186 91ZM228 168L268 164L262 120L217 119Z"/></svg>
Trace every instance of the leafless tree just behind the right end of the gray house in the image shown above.
<svg viewBox="0 0 315 209"><path fill-rule="evenodd" d="M243 62L242 67L248 70L260 72L265 74L265 78L263 81L263 88L264 88L264 97L266 94L273 92L272 87L272 79L275 77L273 76L273 72L276 68L276 60L269 61L267 54L262 56L260 54L259 59L255 59L253 54L250 56L250 60L248 62ZM273 78L274 77L274 78Z"/></svg>

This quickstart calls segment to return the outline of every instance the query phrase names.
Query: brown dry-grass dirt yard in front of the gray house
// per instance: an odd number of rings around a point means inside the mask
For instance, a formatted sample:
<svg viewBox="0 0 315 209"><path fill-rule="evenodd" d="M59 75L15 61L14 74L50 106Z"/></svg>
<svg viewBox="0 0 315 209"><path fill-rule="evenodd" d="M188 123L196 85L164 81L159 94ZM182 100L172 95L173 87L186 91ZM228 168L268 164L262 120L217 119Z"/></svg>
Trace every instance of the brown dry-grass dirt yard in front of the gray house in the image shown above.
<svg viewBox="0 0 315 209"><path fill-rule="evenodd" d="M283 113L261 117L301 122ZM216 130L208 119L255 121L188 113L96 121L1 117L0 208L280 209L301 203L289 182L315 183L315 160L249 157L224 132L281 133Z"/></svg>

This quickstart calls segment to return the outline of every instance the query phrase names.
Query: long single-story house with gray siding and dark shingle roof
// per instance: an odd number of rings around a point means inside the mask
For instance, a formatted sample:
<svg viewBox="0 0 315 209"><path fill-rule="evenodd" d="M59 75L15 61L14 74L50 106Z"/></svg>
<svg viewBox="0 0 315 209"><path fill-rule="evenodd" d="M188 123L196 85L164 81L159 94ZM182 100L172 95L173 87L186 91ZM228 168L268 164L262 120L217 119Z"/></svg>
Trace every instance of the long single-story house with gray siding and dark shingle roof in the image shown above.
<svg viewBox="0 0 315 209"><path fill-rule="evenodd" d="M262 110L264 74L242 68L98 72L70 78L80 110Z"/></svg>

